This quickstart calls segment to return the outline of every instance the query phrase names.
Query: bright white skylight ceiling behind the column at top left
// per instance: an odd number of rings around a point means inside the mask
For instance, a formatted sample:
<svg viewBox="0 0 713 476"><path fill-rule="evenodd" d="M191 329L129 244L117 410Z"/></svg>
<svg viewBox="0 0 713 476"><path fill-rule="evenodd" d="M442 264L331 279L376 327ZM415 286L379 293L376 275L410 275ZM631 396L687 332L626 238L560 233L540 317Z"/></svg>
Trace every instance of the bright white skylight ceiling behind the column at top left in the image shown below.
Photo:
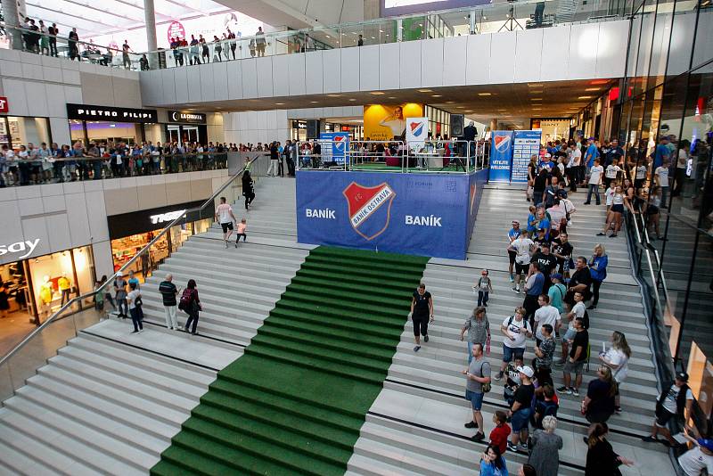
<svg viewBox="0 0 713 476"><path fill-rule="evenodd" d="M77 27L80 38L88 38L145 25L143 0L26 0L26 8L30 18L57 23L61 36L72 27ZM212 0L154 0L154 8L157 23L229 10Z"/></svg>

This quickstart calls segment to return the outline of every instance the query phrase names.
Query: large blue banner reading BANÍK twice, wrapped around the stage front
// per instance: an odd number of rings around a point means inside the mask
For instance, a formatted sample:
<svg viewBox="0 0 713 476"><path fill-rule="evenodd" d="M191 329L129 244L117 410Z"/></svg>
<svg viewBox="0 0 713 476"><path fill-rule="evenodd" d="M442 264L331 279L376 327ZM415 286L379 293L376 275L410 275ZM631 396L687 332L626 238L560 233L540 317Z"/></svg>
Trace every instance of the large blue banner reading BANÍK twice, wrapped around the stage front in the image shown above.
<svg viewBox="0 0 713 476"><path fill-rule="evenodd" d="M486 176L299 170L298 242L465 259Z"/></svg>

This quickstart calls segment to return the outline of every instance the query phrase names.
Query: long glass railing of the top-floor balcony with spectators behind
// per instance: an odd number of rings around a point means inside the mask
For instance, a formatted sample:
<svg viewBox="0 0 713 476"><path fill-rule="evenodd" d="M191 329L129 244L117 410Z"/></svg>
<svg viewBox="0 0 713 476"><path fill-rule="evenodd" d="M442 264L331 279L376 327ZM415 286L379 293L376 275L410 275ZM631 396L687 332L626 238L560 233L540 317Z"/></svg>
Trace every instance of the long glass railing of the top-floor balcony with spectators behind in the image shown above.
<svg viewBox="0 0 713 476"><path fill-rule="evenodd" d="M252 37L205 39L205 43L134 53L122 46L94 45L51 37L38 31L0 27L0 47L93 62L127 70L156 70L333 48L384 45L440 37L459 37L539 29L576 22L605 21L630 14L631 0L516 0L369 21L275 31ZM190 32L187 34L191 35ZM186 38L190 42L189 38Z"/></svg>

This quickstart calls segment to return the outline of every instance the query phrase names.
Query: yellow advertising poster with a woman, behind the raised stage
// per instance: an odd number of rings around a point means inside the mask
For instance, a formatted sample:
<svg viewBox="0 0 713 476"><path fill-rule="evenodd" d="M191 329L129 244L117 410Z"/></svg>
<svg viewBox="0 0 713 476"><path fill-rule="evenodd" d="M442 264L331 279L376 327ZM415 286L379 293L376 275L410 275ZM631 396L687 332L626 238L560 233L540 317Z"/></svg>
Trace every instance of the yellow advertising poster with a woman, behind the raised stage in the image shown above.
<svg viewBox="0 0 713 476"><path fill-rule="evenodd" d="M364 108L364 137L367 141L404 140L406 119L423 116L423 105L406 103L397 105L372 104Z"/></svg>

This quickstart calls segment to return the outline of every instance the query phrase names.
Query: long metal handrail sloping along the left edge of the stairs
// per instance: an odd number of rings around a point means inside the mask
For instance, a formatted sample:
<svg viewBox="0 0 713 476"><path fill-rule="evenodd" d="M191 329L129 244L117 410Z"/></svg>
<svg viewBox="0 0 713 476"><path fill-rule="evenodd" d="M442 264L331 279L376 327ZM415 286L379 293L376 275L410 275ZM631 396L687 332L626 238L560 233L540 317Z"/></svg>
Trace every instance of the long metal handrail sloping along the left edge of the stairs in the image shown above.
<svg viewBox="0 0 713 476"><path fill-rule="evenodd" d="M76 298L73 298L72 300L67 302L64 306L59 308L59 310L57 310L57 312L55 312L52 316L47 317L47 319L45 320L44 323L39 324L39 326L37 326L37 328L35 328L32 332L29 332L29 334L22 341L20 341L19 344L17 344L14 348L12 348L12 350L10 350L2 358L0 358L0 367L2 367L2 365L5 362L7 362L12 356L17 354L20 351L20 349L24 348L29 343L29 341L32 341L38 333L42 332L45 329L45 327L47 327L49 324L52 324L54 321L56 321L66 309L70 308L72 305L74 305L77 302L81 302L82 300L85 300L86 298L96 295L99 292L104 292L104 289L106 288L106 286L108 286L110 283L112 283L114 278L116 278L119 273L121 273L122 271L127 269L127 267L130 267L131 265L133 265L135 263L136 259L138 259L141 255L149 252L151 250L153 244L155 242L158 242L160 240L160 238L163 235L167 234L173 226L176 226L181 220L183 220L184 217L189 212L193 212L196 210L200 211L202 209L205 209L212 201L214 201L216 199L216 197L220 193L222 193L228 186L233 184L234 180L238 176L241 176L242 173L246 169L249 169L250 166L255 161L260 159L260 157L264 157L264 156L258 156L256 158L250 160L249 162L247 162L245 165L243 165L242 168L240 168L240 170L238 170L234 175L230 176L230 178L227 181L225 181L225 183L223 185L220 185L220 187L217 189L217 192L213 193L210 196L210 198L207 201L205 201L200 207L195 207L193 209L185 210L184 213L181 214L180 217L176 217L173 221L171 221L167 226L165 226L163 228L163 230L161 230L160 234L157 234L152 239L151 242L148 242L148 244L146 244L138 253L136 253L131 259L129 259L124 264L124 266L120 267L118 271L116 271L113 275L111 275L111 277L109 279L107 279L106 283L103 283L101 286L99 286L99 288L95 289L94 291L87 292L85 294L82 294L81 296L77 296Z"/></svg>

